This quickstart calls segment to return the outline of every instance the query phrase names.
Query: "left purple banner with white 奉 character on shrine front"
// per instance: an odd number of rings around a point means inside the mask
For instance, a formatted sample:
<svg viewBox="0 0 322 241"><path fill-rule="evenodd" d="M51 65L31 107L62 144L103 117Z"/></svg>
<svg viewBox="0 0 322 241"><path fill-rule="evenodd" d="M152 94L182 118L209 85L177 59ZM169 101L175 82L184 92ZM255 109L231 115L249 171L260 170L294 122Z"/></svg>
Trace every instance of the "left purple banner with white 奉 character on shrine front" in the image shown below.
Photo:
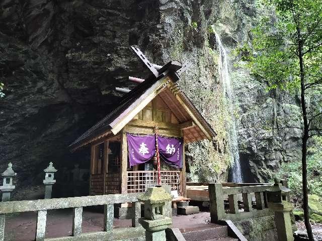
<svg viewBox="0 0 322 241"><path fill-rule="evenodd" d="M145 163L155 154L155 136L126 134L130 166Z"/></svg>

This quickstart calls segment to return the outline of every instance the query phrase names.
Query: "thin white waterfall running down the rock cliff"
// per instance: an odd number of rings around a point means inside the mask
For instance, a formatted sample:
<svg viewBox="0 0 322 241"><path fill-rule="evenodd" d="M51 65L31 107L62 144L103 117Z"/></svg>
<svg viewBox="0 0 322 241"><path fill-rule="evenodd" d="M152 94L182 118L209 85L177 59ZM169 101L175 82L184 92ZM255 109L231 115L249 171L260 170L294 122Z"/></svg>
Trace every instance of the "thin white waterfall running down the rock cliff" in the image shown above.
<svg viewBox="0 0 322 241"><path fill-rule="evenodd" d="M236 122L233 115L233 89L230 85L230 77L228 73L227 52L223 47L219 35L215 32L217 48L219 50L218 72L222 82L223 96L226 99L228 113L230 115L230 123L227 125L228 145L231 151L231 181L236 183L243 182L241 174L239 150L237 142Z"/></svg>

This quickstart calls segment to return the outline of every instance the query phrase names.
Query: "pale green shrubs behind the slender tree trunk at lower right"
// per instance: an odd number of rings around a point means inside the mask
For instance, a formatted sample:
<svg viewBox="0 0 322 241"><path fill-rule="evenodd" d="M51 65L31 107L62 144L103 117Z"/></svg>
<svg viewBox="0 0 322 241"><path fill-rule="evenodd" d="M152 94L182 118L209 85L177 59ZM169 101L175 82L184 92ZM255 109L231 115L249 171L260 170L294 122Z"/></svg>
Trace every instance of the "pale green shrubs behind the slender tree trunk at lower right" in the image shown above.
<svg viewBox="0 0 322 241"><path fill-rule="evenodd" d="M298 205L302 202L302 163L300 161L283 163L277 176L288 179L291 199ZM314 137L308 148L307 182L310 194L322 197L322 137Z"/></svg>

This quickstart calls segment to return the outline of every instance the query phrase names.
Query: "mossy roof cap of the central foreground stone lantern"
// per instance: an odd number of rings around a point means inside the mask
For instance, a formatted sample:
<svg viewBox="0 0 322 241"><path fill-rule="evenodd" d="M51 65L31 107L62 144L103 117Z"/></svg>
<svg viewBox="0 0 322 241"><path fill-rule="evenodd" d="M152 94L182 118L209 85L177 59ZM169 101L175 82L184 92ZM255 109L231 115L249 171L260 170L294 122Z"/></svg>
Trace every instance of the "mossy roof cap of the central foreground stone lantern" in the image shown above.
<svg viewBox="0 0 322 241"><path fill-rule="evenodd" d="M138 199L140 201L150 201L152 204L171 201L172 197L163 187L154 187L148 188Z"/></svg>

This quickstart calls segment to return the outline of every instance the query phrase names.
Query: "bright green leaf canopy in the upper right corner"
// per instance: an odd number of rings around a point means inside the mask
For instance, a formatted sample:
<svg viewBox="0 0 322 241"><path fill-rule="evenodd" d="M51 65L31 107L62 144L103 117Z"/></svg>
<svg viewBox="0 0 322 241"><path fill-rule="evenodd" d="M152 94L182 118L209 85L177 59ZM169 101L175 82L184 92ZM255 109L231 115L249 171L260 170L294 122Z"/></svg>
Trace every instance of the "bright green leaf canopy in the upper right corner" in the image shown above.
<svg viewBox="0 0 322 241"><path fill-rule="evenodd" d="M259 0L257 5L274 11L266 11L259 19L251 45L235 50L241 60L248 61L245 65L251 73L265 80L269 89L298 90L301 41L306 83L321 81L322 0Z"/></svg>

